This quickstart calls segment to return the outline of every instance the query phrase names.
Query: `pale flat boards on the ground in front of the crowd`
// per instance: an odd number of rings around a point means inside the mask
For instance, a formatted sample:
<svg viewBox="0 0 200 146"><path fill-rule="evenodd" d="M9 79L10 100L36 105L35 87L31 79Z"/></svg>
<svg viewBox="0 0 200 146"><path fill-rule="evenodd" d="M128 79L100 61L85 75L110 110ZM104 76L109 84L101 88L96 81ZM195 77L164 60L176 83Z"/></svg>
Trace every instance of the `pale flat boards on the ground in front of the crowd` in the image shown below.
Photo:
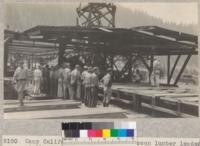
<svg viewBox="0 0 200 146"><path fill-rule="evenodd" d="M5 100L5 119L135 119L149 115L125 110L110 105L103 107L99 102L96 108L88 108L74 100L25 100L25 106L19 107L17 100Z"/></svg>

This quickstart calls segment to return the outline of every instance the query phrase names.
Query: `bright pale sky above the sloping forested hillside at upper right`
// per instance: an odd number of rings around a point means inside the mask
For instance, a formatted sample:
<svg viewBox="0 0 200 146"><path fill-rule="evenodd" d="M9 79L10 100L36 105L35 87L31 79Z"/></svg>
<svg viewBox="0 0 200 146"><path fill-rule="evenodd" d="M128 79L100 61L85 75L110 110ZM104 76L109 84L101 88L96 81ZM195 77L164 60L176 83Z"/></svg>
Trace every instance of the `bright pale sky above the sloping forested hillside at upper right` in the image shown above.
<svg viewBox="0 0 200 146"><path fill-rule="evenodd" d="M164 22L177 24L198 24L198 4L191 3L120 3L121 6L147 12L149 15L161 18Z"/></svg>

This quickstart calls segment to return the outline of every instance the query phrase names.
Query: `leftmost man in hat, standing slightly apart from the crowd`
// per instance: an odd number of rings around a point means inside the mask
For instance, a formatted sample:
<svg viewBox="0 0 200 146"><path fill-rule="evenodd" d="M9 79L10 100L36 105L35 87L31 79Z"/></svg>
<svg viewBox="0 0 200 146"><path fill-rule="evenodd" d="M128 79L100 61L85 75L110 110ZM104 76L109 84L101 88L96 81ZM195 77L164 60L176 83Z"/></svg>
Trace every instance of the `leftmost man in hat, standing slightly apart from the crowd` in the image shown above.
<svg viewBox="0 0 200 146"><path fill-rule="evenodd" d="M20 102L20 106L24 105L24 91L26 87L26 82L28 79L28 72L23 66L23 62L20 62L19 67L15 70L13 79L17 83L16 90L18 93L18 100Z"/></svg>

